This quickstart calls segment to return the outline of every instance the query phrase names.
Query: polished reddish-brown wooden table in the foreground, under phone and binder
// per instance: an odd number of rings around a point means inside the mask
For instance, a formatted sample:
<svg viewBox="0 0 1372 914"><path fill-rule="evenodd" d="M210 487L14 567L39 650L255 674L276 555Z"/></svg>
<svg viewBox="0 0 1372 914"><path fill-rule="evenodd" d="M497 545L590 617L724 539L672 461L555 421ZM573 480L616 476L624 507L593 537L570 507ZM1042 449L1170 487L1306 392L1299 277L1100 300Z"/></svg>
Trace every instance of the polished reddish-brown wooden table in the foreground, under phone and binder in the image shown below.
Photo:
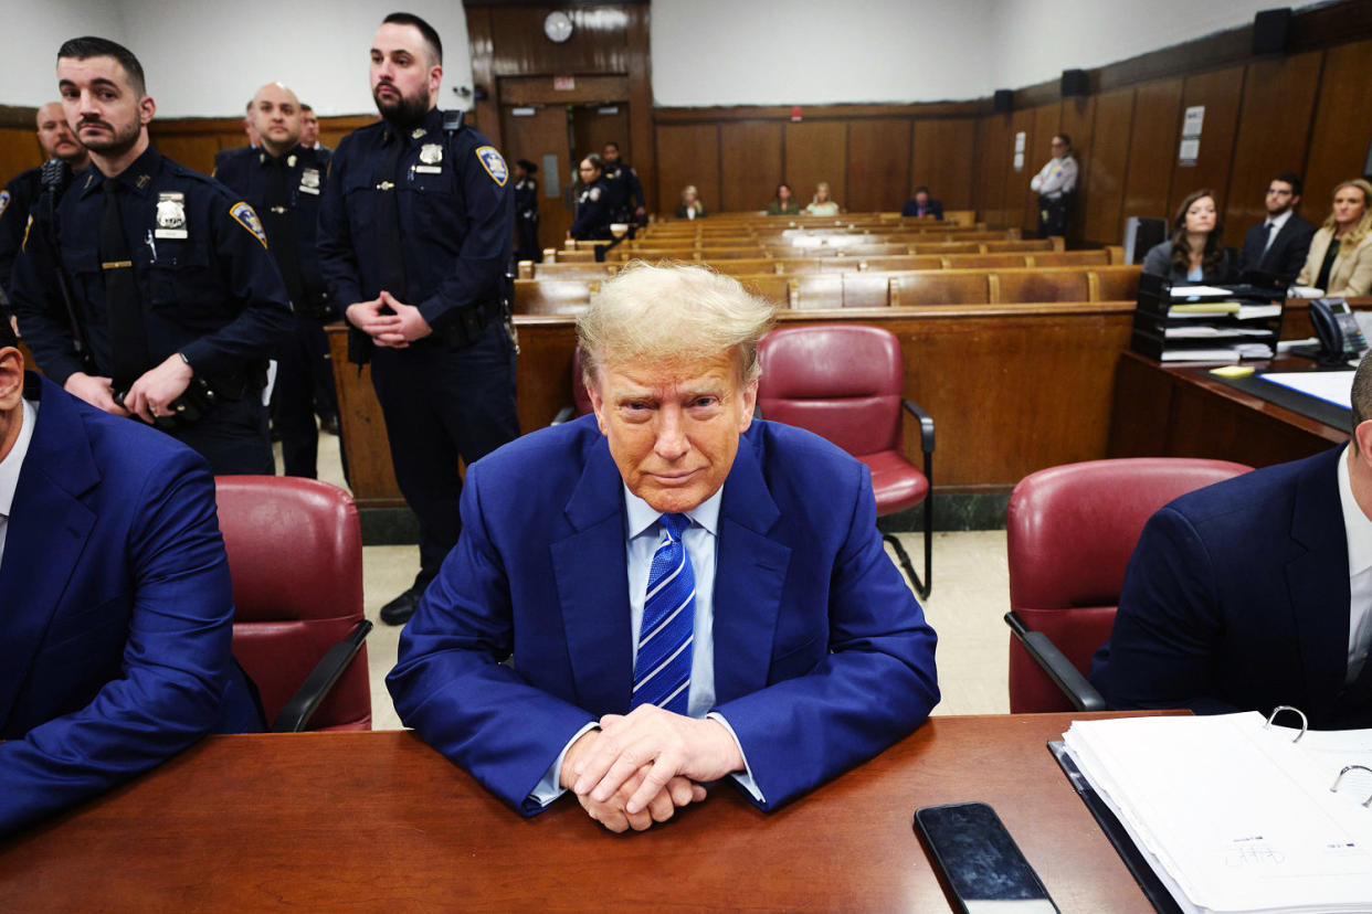
<svg viewBox="0 0 1372 914"><path fill-rule="evenodd" d="M720 785L623 836L521 819L407 732L210 737L0 844L0 910L948 910L911 817L985 800L1063 911L1148 911L1044 748L1084 717L1118 715L933 718L771 815Z"/></svg>

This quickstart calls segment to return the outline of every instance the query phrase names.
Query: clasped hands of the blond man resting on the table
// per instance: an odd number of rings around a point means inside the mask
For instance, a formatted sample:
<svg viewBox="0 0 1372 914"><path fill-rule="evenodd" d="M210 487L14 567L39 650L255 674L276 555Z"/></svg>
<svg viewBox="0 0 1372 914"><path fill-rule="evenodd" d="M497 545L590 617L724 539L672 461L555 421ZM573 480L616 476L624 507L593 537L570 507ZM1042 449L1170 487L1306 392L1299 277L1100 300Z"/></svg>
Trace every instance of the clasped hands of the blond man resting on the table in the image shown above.
<svg viewBox="0 0 1372 914"><path fill-rule="evenodd" d="M729 730L653 706L606 714L601 729L583 734L563 761L561 784L587 814L612 832L641 832L675 810L705 799L696 781L742 770Z"/></svg>

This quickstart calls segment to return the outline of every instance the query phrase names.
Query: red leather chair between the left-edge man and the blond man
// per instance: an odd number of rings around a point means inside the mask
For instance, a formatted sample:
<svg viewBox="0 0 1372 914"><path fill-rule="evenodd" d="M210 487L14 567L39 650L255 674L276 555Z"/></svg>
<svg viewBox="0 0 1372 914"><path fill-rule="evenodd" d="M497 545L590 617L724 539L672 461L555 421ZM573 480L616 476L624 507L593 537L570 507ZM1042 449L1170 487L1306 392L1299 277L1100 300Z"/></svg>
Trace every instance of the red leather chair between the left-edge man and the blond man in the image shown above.
<svg viewBox="0 0 1372 914"><path fill-rule="evenodd" d="M296 477L221 475L214 485L233 576L233 655L270 729L372 729L372 623L353 497Z"/></svg>

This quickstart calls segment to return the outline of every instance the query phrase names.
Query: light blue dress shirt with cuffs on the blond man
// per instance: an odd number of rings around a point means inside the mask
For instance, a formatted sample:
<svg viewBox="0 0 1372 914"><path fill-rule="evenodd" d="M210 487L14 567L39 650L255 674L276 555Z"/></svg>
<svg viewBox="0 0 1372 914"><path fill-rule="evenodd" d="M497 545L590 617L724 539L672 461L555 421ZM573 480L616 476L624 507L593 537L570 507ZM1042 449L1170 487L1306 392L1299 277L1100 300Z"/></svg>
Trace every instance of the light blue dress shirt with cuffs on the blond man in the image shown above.
<svg viewBox="0 0 1372 914"><path fill-rule="evenodd" d="M729 730L738 747L738 755L744 759L744 771L733 777L738 784L752 793L753 799L761 802L763 793L757 789L752 770L748 769L748 756L738 741L738 734L718 711L709 708L715 706L715 566L719 555L719 506L724 499L724 489L709 496L698 506L686 511L690 526L682 532L682 545L690 556L691 573L696 576L696 617L691 636L690 655L690 688L686 699L687 717L708 717ZM628 554L628 623L632 636L634 659L638 659L638 632L643 625L643 603L648 596L648 576L652 571L653 555L663 541L661 512L653 510L643 499L638 497L624 486L624 507L627 508L627 529L624 530L624 547ZM594 729L595 724L587 724L567 741L563 751L552 767L543 774L531 793L532 799L542 806L547 806L563 795L558 778L563 771L563 761L567 750L572 747L582 733Z"/></svg>

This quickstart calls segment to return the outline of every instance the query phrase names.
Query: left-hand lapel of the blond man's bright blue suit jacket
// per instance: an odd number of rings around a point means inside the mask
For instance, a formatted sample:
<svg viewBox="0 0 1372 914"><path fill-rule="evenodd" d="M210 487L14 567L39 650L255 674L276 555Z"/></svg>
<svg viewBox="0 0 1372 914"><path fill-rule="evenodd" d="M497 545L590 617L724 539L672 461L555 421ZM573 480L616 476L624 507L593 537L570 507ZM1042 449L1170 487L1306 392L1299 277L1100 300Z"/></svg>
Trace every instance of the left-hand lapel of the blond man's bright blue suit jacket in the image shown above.
<svg viewBox="0 0 1372 914"><path fill-rule="evenodd" d="M549 548L578 704L624 714L634 691L624 496L604 437L590 449L565 515L572 533Z"/></svg>

